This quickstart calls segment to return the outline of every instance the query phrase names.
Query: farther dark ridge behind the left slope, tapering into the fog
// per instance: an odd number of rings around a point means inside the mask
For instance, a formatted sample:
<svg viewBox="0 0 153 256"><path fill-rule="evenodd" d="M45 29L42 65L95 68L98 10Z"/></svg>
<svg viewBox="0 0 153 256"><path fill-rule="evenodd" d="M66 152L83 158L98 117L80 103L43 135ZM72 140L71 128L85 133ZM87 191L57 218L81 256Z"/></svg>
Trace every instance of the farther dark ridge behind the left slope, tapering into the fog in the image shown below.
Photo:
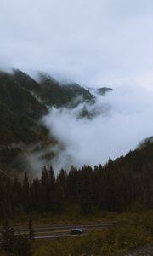
<svg viewBox="0 0 153 256"><path fill-rule="evenodd" d="M89 90L79 84L59 84L47 74L39 73L39 82L36 82L26 73L14 70L14 78L47 106L74 108L80 102L94 101Z"/></svg>

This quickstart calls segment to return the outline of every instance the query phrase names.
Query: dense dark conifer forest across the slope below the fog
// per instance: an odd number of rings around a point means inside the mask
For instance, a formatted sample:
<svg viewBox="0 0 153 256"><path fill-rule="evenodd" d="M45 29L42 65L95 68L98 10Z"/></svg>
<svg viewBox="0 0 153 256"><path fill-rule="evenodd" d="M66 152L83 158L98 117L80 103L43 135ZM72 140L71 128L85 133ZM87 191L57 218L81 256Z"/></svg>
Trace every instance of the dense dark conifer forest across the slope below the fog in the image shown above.
<svg viewBox="0 0 153 256"><path fill-rule="evenodd" d="M109 160L105 166L71 167L54 177L52 167L42 176L22 181L1 176L0 217L14 218L15 212L62 213L70 203L88 214L99 210L122 212L139 205L153 208L153 144L149 141L125 157Z"/></svg>

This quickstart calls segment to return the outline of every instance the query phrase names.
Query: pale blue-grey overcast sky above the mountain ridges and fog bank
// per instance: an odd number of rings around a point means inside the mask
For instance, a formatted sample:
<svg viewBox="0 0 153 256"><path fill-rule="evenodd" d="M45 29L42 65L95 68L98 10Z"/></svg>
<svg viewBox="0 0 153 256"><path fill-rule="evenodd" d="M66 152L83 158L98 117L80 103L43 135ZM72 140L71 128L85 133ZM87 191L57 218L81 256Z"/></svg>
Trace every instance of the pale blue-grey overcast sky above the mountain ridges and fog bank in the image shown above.
<svg viewBox="0 0 153 256"><path fill-rule="evenodd" d="M153 88L152 0L1 0L0 67Z"/></svg>

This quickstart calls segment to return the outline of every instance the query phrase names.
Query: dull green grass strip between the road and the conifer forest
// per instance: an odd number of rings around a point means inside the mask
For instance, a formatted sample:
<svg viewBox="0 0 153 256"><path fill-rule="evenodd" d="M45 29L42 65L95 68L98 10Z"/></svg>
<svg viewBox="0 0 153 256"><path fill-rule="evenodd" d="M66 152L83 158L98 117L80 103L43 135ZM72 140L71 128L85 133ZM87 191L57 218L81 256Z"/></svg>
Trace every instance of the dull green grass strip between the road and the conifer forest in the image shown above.
<svg viewBox="0 0 153 256"><path fill-rule="evenodd" d="M47 226L52 224L89 224L89 223L101 223L109 220L115 220L117 213L114 212L99 212L94 211L88 216L84 216L80 212L80 208L77 205L70 205L65 207L65 212L62 214L54 214L53 212L45 212L38 214L33 212L31 214L23 214L23 212L16 212L16 217L10 220L10 224L16 227L27 227L29 219L32 219L34 227ZM2 226L3 220L0 221Z"/></svg>

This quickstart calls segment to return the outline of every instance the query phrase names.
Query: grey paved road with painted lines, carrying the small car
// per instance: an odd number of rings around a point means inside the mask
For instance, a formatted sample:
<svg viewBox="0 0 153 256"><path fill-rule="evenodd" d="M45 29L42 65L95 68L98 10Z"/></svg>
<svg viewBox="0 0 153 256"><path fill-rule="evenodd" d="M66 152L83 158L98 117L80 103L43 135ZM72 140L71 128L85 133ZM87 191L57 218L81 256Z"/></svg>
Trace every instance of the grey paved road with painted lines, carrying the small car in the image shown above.
<svg viewBox="0 0 153 256"><path fill-rule="evenodd" d="M47 227L34 228L35 239L55 239L70 236L82 236L91 230L101 230L107 228L116 222L107 222L102 224L66 224L66 225L50 225ZM72 235L71 229L81 228L83 230L82 235ZM1 230L0 230L1 231ZM27 229L15 229L15 234L27 234Z"/></svg>

